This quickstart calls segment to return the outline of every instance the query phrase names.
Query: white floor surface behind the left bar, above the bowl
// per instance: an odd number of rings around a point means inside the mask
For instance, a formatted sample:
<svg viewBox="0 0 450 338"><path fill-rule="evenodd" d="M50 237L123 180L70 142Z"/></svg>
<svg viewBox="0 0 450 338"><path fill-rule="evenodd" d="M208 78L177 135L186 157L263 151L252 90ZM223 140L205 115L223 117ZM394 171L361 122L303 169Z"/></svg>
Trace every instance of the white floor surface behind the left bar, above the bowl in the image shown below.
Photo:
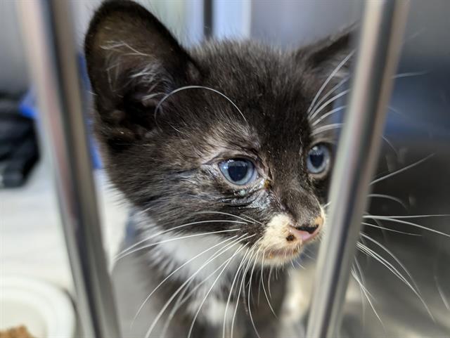
<svg viewBox="0 0 450 338"><path fill-rule="evenodd" d="M127 207L102 170L95 172L103 241L114 254ZM0 190L0 278L30 275L72 291L72 278L49 165L41 161L23 188Z"/></svg>

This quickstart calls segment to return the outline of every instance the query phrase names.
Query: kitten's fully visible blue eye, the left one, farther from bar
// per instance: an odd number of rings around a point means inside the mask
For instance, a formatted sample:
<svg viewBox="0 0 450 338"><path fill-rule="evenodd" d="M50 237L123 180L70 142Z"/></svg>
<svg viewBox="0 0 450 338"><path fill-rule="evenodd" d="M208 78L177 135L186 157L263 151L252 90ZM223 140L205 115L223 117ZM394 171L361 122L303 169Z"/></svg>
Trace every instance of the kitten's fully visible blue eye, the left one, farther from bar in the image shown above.
<svg viewBox="0 0 450 338"><path fill-rule="evenodd" d="M219 169L229 182L237 186L245 186L257 178L255 164L243 158L219 162Z"/></svg>

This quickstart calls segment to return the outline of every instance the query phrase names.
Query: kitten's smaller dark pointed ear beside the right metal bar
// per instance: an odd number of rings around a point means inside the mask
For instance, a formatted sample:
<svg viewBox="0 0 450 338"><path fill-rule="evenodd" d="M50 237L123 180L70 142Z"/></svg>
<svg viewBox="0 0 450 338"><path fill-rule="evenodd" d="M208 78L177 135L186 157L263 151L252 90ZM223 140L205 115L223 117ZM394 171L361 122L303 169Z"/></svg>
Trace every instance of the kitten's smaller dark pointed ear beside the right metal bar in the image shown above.
<svg viewBox="0 0 450 338"><path fill-rule="evenodd" d="M354 25L347 27L338 34L300 49L297 57L300 57L307 69L318 77L326 79L335 72L333 82L339 81L349 74L354 55L352 46L354 32Z"/></svg>

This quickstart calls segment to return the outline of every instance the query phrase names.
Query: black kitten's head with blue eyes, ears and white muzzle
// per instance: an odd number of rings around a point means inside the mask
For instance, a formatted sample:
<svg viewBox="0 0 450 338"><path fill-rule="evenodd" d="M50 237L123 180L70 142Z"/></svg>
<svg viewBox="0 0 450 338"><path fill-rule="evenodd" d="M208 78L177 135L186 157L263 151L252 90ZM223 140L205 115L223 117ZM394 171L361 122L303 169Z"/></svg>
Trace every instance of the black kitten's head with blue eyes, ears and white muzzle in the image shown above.
<svg viewBox="0 0 450 338"><path fill-rule="evenodd" d="M141 6L103 4L85 51L110 178L158 227L239 238L267 264L292 259L323 227L331 143L310 108L342 79L326 82L348 41L186 51Z"/></svg>

